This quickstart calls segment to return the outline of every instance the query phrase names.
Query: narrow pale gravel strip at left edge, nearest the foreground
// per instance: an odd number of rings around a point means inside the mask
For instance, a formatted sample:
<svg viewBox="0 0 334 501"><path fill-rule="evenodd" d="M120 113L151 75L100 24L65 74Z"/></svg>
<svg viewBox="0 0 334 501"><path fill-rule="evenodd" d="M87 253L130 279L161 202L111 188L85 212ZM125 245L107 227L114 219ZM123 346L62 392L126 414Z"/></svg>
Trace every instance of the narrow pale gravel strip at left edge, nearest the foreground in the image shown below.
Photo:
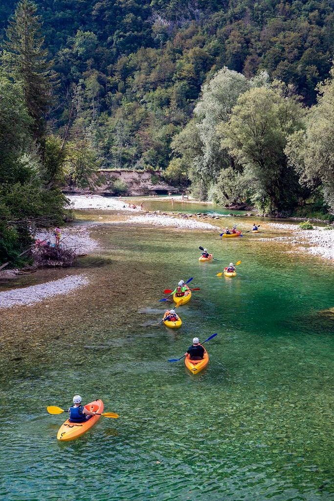
<svg viewBox="0 0 334 501"><path fill-rule="evenodd" d="M84 275L68 275L63 279L53 280L45 284L0 292L0 309L33 305L53 296L68 294L88 284L89 280Z"/></svg>

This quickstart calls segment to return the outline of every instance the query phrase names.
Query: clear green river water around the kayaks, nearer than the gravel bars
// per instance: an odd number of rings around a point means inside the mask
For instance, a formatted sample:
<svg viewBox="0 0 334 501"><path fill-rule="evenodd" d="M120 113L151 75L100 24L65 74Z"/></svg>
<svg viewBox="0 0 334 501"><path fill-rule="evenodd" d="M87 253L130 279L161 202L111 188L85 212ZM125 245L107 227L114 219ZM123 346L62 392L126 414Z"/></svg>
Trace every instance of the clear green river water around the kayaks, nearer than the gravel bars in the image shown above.
<svg viewBox="0 0 334 501"><path fill-rule="evenodd" d="M256 235L92 231L106 250L52 271L90 286L1 312L0 498L332 501L332 266ZM198 245L221 263L199 264ZM216 277L239 259L235 279ZM189 277L201 291L182 328L157 327L162 290ZM167 362L214 332L202 373ZM46 406L76 393L121 417L59 443L65 415Z"/></svg>

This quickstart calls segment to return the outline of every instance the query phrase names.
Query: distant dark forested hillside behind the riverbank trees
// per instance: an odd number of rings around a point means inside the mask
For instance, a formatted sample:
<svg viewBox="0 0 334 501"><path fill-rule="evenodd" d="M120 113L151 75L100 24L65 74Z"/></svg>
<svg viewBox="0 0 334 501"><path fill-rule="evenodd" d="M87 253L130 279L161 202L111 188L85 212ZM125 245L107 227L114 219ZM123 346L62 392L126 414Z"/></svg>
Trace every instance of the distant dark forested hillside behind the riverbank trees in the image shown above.
<svg viewBox="0 0 334 501"><path fill-rule="evenodd" d="M165 168L201 85L223 66L247 78L266 70L313 104L333 55L330 4L38 0L59 82L50 126L64 135L72 113L70 139L104 167ZM0 7L3 38L15 7Z"/></svg>

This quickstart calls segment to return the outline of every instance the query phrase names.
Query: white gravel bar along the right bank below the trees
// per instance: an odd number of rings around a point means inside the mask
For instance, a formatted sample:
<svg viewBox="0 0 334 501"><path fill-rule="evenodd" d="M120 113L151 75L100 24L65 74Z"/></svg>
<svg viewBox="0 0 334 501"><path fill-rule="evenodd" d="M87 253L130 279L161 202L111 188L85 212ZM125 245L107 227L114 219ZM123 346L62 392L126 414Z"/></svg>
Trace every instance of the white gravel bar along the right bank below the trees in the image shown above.
<svg viewBox="0 0 334 501"><path fill-rule="evenodd" d="M297 224L268 223L275 229L285 229L293 231L293 238L309 247L302 247L307 253L321 258L334 260L334 229L325 229L321 226L314 226L314 229L300 229Z"/></svg>

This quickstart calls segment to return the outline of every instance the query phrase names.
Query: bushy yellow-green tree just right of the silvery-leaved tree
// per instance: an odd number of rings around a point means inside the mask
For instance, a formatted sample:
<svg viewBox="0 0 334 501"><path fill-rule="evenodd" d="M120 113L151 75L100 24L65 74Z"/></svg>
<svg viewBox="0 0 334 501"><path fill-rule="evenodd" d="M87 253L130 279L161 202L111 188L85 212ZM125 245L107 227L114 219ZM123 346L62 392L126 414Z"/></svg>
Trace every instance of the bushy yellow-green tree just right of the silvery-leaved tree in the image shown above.
<svg viewBox="0 0 334 501"><path fill-rule="evenodd" d="M284 148L287 137L302 126L303 115L298 97L274 82L271 88L242 94L222 126L223 146L249 176L257 205L271 213L289 210L300 194Z"/></svg>

